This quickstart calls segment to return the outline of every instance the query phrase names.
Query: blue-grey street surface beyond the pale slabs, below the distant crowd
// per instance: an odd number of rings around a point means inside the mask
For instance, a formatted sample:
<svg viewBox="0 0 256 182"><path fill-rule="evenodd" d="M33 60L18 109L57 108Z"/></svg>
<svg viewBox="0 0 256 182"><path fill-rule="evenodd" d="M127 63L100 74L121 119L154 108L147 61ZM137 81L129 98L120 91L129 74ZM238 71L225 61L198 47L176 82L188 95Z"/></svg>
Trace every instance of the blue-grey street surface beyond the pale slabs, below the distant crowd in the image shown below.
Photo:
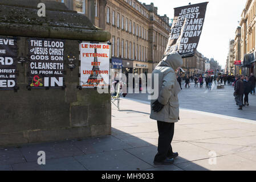
<svg viewBox="0 0 256 182"><path fill-rule="evenodd" d="M224 89L217 89L214 85L211 90L205 88L205 83L203 88L200 88L199 84L194 88L194 82L190 84L190 88L185 88L184 85L185 83L182 82L182 90L178 94L181 108L256 120L256 95L249 94L249 106L243 107L240 111L235 105L234 87L231 85L226 84ZM132 93L127 94L126 97L149 101L148 94Z"/></svg>

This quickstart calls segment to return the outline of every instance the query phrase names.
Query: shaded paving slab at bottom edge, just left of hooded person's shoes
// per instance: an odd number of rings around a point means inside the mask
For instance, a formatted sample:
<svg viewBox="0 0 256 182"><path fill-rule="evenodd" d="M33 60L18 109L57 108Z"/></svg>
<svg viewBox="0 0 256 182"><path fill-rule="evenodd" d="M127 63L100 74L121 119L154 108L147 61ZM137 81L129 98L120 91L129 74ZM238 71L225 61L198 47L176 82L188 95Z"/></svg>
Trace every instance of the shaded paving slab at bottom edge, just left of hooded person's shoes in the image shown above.
<svg viewBox="0 0 256 182"><path fill-rule="evenodd" d="M74 158L92 171L138 171L152 168L148 163L124 150L81 155Z"/></svg>

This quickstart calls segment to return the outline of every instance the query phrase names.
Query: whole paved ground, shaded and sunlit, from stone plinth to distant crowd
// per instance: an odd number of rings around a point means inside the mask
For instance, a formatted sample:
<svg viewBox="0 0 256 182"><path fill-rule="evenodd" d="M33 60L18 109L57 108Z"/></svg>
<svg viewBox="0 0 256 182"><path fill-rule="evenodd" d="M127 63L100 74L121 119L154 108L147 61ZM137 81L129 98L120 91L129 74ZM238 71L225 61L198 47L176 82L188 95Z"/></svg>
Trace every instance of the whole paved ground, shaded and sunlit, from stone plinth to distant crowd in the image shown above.
<svg viewBox="0 0 256 182"><path fill-rule="evenodd" d="M255 120L249 119L251 116L243 119L215 112L218 110L215 103L217 100L224 103L229 96L222 97L221 94L230 94L231 86L200 96L204 92L207 91L199 88L181 92L181 107L188 109L180 109L181 120L175 124L172 146L179 156L172 165L153 164L159 136L156 121L149 118L147 101L135 100L131 98L132 94L128 94L130 98L121 98L120 110L112 105L111 135L0 147L0 170L256 170ZM188 102L194 99L186 95L190 93L199 94L194 101L201 104L215 100L212 107L205 106L212 110L196 110L201 107L198 104L189 106ZM138 96L142 98L142 94ZM241 113L251 112L250 107L255 105L253 97L250 96L251 105ZM230 103L226 106L226 113L233 107L236 111L233 101L226 99L225 102ZM38 151L46 153L46 165L38 165Z"/></svg>

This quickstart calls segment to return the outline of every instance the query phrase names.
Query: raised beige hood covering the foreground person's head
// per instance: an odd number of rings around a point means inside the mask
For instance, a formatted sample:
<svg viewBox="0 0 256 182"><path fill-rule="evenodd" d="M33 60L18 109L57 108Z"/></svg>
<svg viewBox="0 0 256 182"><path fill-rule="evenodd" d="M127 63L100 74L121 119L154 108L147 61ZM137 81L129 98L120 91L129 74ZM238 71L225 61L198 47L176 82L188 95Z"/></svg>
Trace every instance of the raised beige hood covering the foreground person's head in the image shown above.
<svg viewBox="0 0 256 182"><path fill-rule="evenodd" d="M181 67L182 64L183 64L183 60L181 55L175 52L165 56L164 59L162 59L160 63L157 65L157 67L170 67L173 70L175 70Z"/></svg>

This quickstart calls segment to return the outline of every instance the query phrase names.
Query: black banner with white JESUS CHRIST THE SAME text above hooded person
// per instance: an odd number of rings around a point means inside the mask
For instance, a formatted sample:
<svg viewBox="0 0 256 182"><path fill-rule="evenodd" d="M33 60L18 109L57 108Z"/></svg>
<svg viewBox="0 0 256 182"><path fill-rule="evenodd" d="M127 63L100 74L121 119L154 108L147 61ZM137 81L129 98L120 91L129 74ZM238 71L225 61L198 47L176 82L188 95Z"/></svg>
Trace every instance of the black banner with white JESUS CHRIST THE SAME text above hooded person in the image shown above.
<svg viewBox="0 0 256 182"><path fill-rule="evenodd" d="M182 57L194 56L202 33L208 2L176 7L164 55L178 52Z"/></svg>

